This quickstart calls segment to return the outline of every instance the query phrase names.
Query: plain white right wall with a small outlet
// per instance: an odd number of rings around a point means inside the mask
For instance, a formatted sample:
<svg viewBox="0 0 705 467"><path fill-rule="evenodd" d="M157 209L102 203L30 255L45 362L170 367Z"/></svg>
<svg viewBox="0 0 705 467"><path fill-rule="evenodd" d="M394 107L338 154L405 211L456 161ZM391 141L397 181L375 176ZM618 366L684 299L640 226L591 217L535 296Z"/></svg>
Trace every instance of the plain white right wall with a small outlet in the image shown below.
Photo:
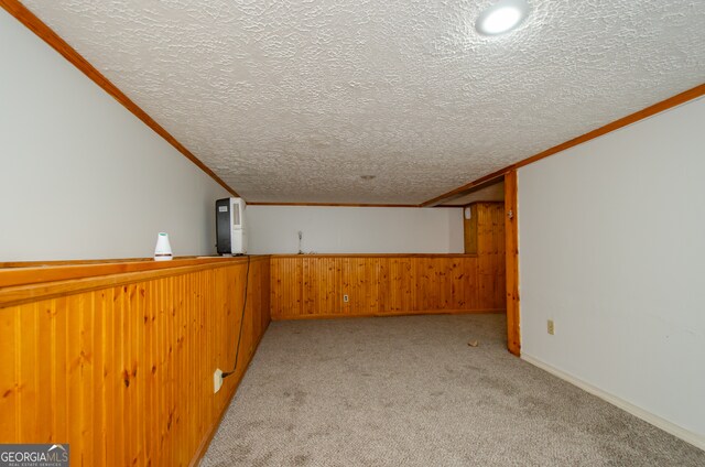
<svg viewBox="0 0 705 467"><path fill-rule="evenodd" d="M699 99L519 171L522 354L701 443L704 122Z"/></svg>

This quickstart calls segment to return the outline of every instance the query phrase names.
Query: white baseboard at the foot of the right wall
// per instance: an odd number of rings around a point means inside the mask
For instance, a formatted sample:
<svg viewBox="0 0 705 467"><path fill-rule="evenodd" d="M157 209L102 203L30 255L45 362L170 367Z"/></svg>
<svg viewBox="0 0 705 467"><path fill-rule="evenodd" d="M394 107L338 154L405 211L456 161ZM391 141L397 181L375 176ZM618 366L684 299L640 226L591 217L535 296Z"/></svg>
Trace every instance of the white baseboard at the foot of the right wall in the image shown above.
<svg viewBox="0 0 705 467"><path fill-rule="evenodd" d="M562 380L570 382L571 384L577 385L582 390L587 391L593 395L597 395L601 400L607 401L612 405L617 405L619 409L623 410L625 412L629 412L630 414L643 420L644 422L652 424L657 428L661 428L664 432L670 433L673 436L679 437L684 442L690 443L693 446L705 450L705 435L691 432L690 430L685 430L672 422L669 422L665 419L661 419L659 415L654 415L653 413L648 412L630 402L627 402L621 398L618 398L608 392L605 392L601 389L596 388L593 384L585 382L572 374L568 374L563 370L558 370L557 368L552 367L549 363L544 363L543 361L539 360L535 357L532 357L530 355L525 355L522 352L521 359L528 361L529 363L535 367L541 368L544 371L550 372L555 377L561 378Z"/></svg>

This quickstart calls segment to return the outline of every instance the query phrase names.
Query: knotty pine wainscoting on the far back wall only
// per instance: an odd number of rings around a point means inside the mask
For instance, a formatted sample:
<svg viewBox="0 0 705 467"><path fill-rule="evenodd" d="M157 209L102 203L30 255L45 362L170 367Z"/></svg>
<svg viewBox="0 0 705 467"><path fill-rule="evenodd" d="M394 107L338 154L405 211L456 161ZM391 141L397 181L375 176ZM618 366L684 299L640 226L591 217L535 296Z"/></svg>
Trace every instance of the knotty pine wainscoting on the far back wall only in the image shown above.
<svg viewBox="0 0 705 467"><path fill-rule="evenodd" d="M476 254L272 256L272 319L503 311L480 267Z"/></svg>

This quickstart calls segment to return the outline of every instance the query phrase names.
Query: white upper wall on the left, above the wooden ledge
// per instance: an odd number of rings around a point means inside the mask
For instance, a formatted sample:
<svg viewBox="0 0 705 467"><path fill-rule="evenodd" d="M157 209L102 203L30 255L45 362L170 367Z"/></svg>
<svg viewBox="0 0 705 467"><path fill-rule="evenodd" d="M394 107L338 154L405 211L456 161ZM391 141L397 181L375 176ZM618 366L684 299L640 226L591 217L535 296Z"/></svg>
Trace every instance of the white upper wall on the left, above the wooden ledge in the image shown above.
<svg viewBox="0 0 705 467"><path fill-rule="evenodd" d="M227 192L0 9L0 261L215 251Z"/></svg>

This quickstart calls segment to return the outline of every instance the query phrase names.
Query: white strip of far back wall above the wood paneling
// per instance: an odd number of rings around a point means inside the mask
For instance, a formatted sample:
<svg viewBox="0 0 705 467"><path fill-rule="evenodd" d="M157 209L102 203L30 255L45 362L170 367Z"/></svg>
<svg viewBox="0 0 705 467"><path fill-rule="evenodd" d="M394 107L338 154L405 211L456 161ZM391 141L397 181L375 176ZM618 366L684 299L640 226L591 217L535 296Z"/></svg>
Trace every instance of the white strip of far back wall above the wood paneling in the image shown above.
<svg viewBox="0 0 705 467"><path fill-rule="evenodd" d="M460 208L248 206L249 251L462 253Z"/></svg>

